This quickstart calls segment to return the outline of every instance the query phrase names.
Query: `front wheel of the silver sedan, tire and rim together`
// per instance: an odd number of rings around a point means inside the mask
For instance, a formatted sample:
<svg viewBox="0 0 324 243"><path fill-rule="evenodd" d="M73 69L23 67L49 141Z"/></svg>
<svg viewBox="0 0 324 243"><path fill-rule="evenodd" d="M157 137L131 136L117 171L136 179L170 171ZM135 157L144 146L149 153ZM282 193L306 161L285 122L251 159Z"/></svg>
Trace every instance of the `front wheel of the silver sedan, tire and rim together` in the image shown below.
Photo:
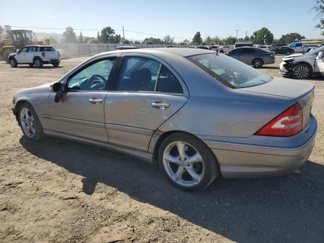
<svg viewBox="0 0 324 243"><path fill-rule="evenodd" d="M26 138L33 141L43 139L45 135L42 124L32 106L23 103L18 112L20 128Z"/></svg>

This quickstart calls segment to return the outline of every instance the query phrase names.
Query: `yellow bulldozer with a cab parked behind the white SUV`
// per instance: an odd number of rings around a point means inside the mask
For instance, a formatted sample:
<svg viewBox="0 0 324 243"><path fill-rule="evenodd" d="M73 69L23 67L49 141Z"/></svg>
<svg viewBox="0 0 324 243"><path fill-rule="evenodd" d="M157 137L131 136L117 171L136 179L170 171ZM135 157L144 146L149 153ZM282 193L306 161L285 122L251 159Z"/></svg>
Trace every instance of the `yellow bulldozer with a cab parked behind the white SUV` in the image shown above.
<svg viewBox="0 0 324 243"><path fill-rule="evenodd" d="M45 39L42 42L32 40L32 31L26 29L11 30L11 39L3 39L0 41L0 56L9 63L8 55L15 53L17 49L26 45L50 45L50 40Z"/></svg>

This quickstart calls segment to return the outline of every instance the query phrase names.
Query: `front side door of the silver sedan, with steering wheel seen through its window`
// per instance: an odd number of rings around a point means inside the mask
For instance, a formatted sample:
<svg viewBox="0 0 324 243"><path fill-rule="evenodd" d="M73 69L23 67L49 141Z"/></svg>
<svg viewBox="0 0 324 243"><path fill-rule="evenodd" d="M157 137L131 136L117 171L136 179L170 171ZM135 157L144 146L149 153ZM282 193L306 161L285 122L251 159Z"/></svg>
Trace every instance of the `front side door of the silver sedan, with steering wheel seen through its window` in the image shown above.
<svg viewBox="0 0 324 243"><path fill-rule="evenodd" d="M104 101L110 87L116 57L93 61L67 78L66 90L55 103L49 97L51 130L108 142Z"/></svg>

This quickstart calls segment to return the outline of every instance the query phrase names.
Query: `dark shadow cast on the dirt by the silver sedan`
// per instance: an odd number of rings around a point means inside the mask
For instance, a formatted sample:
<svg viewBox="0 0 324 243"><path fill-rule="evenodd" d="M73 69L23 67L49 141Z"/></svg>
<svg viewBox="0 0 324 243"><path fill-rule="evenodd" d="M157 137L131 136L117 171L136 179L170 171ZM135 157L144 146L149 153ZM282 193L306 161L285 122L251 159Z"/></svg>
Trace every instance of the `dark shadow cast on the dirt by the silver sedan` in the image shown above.
<svg viewBox="0 0 324 243"><path fill-rule="evenodd" d="M217 178L206 190L176 189L157 167L124 154L57 138L20 139L30 153L83 176L83 190L104 183L238 242L323 242L324 166L261 179ZM191 232L194 233L194 232Z"/></svg>

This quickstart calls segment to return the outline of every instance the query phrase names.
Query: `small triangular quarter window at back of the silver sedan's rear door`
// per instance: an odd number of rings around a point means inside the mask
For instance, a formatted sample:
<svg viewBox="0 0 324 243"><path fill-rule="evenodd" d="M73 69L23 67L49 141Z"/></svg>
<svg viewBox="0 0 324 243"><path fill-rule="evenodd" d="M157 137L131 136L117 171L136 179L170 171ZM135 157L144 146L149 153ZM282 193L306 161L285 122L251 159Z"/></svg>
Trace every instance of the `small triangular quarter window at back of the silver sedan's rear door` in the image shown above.
<svg viewBox="0 0 324 243"><path fill-rule="evenodd" d="M183 93L178 79L165 66L161 67L155 91L163 93Z"/></svg>

